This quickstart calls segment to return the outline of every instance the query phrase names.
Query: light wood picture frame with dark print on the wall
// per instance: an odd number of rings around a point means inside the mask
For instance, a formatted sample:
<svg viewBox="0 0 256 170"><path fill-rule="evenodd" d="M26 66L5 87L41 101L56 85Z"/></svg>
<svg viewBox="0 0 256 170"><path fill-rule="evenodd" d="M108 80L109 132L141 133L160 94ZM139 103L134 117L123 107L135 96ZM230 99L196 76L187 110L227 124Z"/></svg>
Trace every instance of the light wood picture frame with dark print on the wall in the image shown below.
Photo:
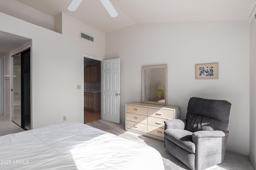
<svg viewBox="0 0 256 170"><path fill-rule="evenodd" d="M196 64L196 79L218 79L218 63Z"/></svg>

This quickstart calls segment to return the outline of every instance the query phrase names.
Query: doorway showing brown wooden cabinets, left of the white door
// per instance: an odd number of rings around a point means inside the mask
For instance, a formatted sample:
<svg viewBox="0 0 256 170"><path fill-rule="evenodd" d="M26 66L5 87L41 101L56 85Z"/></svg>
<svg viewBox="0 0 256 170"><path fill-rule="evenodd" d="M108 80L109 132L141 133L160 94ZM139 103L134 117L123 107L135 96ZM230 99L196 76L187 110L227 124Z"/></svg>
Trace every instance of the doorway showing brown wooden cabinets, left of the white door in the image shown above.
<svg viewBox="0 0 256 170"><path fill-rule="evenodd" d="M101 61L84 57L84 123L101 119Z"/></svg>

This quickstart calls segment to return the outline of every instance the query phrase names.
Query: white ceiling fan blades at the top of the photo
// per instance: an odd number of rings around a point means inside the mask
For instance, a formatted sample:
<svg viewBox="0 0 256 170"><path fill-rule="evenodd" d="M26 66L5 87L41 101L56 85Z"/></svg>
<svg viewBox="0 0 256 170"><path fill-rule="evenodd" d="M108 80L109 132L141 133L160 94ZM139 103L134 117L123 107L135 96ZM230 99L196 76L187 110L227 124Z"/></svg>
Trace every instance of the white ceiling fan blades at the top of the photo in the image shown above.
<svg viewBox="0 0 256 170"><path fill-rule="evenodd" d="M78 6L81 4L83 0L72 0L72 2L68 6L68 10L70 11L76 11ZM115 8L112 6L109 0L100 0L100 2L103 4L103 6L106 8L108 13L111 17L118 16L118 13L116 12Z"/></svg>

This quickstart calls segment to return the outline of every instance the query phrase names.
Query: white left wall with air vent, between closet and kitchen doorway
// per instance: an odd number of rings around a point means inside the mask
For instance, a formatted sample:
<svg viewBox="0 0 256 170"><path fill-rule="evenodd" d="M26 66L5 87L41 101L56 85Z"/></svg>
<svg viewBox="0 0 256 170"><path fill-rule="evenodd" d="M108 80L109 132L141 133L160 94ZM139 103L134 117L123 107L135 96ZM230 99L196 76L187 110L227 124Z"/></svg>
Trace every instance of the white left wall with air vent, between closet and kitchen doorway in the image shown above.
<svg viewBox="0 0 256 170"><path fill-rule="evenodd" d="M33 128L67 121L83 122L82 53L104 57L105 34L62 14L62 33L0 13L0 31L32 39ZM17 29L16 26L19 26ZM95 42L80 39L80 31Z"/></svg>

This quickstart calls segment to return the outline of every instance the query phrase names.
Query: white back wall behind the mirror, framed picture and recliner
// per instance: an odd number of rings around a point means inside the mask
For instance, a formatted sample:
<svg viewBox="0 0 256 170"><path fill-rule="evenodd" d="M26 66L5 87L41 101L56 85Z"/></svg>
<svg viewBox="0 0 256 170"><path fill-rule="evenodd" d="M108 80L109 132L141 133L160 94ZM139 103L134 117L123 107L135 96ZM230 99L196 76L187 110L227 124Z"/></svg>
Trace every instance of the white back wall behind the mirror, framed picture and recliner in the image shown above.
<svg viewBox="0 0 256 170"><path fill-rule="evenodd" d="M141 102L141 67L168 65L168 105L186 116L192 96L232 104L227 148L249 153L249 23L137 24L106 34L106 59L120 58L121 123L125 103ZM218 80L195 80L195 64L219 63Z"/></svg>

